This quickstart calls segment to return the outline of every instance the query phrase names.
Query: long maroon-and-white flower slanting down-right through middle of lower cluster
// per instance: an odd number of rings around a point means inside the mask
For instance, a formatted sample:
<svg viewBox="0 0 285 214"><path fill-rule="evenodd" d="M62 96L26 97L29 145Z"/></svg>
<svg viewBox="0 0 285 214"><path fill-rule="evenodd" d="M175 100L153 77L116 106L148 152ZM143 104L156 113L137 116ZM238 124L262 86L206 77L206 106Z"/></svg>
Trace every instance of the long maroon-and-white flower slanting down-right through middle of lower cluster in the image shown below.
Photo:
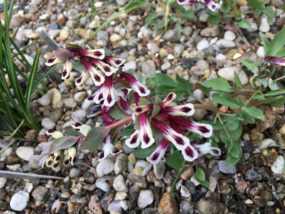
<svg viewBox="0 0 285 214"><path fill-rule="evenodd" d="M155 126L155 128L157 128L158 131L160 131L160 133L162 133L162 136L173 143L178 150L182 151L186 146L190 145L188 138L180 133L177 133L172 128L170 128L170 126L165 125L165 123L162 123L161 121L158 121L154 118L152 118L151 123L153 126Z"/></svg>

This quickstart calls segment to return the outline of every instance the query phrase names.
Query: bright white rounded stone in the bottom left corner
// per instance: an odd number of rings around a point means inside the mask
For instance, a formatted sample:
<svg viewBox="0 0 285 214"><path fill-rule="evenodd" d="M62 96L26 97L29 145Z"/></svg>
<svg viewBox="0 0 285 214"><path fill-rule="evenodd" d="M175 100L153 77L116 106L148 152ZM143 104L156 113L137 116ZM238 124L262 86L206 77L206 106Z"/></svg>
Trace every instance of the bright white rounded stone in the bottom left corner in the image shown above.
<svg viewBox="0 0 285 214"><path fill-rule="evenodd" d="M10 207L12 210L22 211L28 205L30 195L26 191L20 190L15 193L10 200Z"/></svg>

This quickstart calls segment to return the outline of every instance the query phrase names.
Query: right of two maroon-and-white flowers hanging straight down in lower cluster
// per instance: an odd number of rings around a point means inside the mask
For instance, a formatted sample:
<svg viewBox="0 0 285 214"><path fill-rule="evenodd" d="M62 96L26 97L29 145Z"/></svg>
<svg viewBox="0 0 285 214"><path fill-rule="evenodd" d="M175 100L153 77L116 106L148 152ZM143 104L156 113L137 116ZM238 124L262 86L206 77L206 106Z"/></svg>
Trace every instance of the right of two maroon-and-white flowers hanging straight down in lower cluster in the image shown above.
<svg viewBox="0 0 285 214"><path fill-rule="evenodd" d="M147 113L142 113L140 118L140 141L142 142L142 148L148 148L155 143L155 138L152 136L152 129L150 122L147 118Z"/></svg>

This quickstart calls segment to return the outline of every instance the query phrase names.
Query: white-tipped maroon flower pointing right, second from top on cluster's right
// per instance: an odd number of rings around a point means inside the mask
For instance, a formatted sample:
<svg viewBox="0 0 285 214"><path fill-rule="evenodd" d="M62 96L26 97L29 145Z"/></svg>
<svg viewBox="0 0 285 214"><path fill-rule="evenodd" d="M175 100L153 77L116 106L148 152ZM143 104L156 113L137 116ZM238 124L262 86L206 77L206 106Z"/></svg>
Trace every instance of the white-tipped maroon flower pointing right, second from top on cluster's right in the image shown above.
<svg viewBox="0 0 285 214"><path fill-rule="evenodd" d="M192 131L194 133L199 134L204 138L209 138L212 136L213 128L209 124L197 123L194 121L189 121L180 116L170 116L172 121L175 121L178 125L182 126L182 128L187 129L188 131Z"/></svg>

